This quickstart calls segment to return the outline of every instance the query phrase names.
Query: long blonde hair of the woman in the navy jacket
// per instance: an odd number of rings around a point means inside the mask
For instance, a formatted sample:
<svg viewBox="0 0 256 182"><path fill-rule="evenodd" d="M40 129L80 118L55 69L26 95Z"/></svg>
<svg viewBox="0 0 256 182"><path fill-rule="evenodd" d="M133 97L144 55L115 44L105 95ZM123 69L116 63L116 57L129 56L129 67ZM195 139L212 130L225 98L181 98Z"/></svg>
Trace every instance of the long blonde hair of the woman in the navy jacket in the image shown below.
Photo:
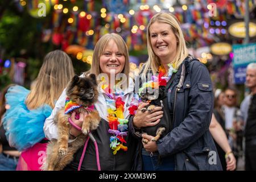
<svg viewBox="0 0 256 182"><path fill-rule="evenodd" d="M167 23L170 24L170 28L177 39L177 51L172 63L176 65L176 69L179 68L182 61L188 56L188 49L186 47L185 39L180 28L180 23L176 17L170 13L158 13L155 14L148 23L147 26L147 51L148 51L148 60L145 63L143 73L146 73L148 69L152 69L153 73L158 71L158 67L161 64L158 56L155 55L152 45L150 42L150 27L153 23Z"/></svg>

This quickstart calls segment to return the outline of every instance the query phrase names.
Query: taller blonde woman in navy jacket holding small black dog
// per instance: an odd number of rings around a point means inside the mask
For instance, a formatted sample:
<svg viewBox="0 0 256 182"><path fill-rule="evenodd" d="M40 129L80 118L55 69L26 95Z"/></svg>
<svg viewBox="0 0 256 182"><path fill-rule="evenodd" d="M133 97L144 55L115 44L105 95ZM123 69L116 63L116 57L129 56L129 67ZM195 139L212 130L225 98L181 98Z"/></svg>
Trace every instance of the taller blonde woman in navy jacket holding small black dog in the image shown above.
<svg viewBox="0 0 256 182"><path fill-rule="evenodd" d="M141 140L135 169L221 170L220 159L209 132L213 110L212 82L207 68L188 54L180 24L174 15L155 14L147 27L148 61L142 73L168 77L167 105L151 112L139 105L130 129ZM167 133L159 140L142 134L170 111ZM142 146L143 144L143 146ZM209 158L212 156L212 158Z"/></svg>

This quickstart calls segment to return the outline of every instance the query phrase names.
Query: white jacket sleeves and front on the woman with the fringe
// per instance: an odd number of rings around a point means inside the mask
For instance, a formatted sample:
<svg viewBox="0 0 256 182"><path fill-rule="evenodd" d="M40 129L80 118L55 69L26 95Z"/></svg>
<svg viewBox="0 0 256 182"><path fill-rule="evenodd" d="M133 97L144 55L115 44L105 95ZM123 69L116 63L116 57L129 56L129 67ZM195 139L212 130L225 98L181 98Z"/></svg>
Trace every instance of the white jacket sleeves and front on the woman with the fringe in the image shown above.
<svg viewBox="0 0 256 182"><path fill-rule="evenodd" d="M82 75L81 75L82 76ZM80 77L81 77L80 76ZM129 106L126 104L130 104L131 99L134 96L133 93L134 90L134 82L132 78L129 78L129 87L124 91L125 96L123 98L123 101L125 102L125 111L124 111L124 116L126 119L129 118ZM52 110L51 115L46 119L44 122L44 134L46 135L46 138L49 140L51 139L57 139L58 134L57 134L57 126L55 125L55 122L53 119L55 118L56 113L63 107L65 107L65 99L66 99L66 89L63 90L63 93L57 100L55 107ZM109 98L104 91L101 89L98 94L98 101L96 104L94 104L95 109L98 111L100 114L100 117L108 121L107 116L108 116L108 111L107 111L107 105L106 105L106 98Z"/></svg>

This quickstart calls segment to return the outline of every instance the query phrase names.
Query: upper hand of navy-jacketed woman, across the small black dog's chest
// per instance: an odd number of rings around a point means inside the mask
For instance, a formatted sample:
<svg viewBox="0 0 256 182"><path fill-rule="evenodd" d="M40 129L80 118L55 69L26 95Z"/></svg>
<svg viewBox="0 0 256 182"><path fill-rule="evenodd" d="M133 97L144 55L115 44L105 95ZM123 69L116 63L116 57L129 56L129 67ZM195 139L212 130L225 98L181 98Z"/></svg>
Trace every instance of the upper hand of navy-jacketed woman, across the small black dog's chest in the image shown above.
<svg viewBox="0 0 256 182"><path fill-rule="evenodd" d="M155 107L151 111L141 111L143 107L146 107L149 103L142 102L138 106L137 113L133 118L133 125L140 129L141 127L155 126L159 123L160 118L163 117L162 107Z"/></svg>

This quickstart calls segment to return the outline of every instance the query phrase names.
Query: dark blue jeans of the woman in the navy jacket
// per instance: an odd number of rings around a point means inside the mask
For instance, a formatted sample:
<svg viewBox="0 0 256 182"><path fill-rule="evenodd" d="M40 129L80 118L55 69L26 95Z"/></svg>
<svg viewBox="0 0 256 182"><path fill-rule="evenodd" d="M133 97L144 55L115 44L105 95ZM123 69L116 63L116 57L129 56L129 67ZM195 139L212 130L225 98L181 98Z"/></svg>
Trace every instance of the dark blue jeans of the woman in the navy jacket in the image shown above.
<svg viewBox="0 0 256 182"><path fill-rule="evenodd" d="M158 156L142 155L143 171L174 171L174 156L158 159Z"/></svg>

